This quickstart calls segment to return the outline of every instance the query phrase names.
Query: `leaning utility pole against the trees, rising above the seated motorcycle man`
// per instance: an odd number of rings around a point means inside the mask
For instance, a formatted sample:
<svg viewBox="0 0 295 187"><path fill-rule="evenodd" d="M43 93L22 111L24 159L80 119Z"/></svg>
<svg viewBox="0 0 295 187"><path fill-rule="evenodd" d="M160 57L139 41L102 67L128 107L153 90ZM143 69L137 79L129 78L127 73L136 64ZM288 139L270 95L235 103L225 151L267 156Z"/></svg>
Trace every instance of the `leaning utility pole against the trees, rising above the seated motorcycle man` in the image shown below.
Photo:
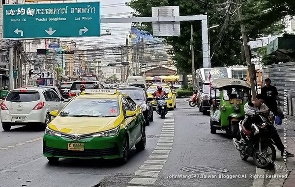
<svg viewBox="0 0 295 187"><path fill-rule="evenodd" d="M236 0L236 3L240 4L240 0ZM239 17L240 21L243 18L242 6L238 9L238 17ZM247 67L248 67L248 72L249 72L250 86L251 86L251 90L252 90L252 99L254 101L255 97L256 97L255 80L254 80L254 78L256 77L255 76L255 66L254 66L254 70L253 70L253 66L251 64L250 52L249 52L249 48L248 48L248 39L247 39L246 28L243 23L241 23L241 32L242 32L246 62L247 62Z"/></svg>

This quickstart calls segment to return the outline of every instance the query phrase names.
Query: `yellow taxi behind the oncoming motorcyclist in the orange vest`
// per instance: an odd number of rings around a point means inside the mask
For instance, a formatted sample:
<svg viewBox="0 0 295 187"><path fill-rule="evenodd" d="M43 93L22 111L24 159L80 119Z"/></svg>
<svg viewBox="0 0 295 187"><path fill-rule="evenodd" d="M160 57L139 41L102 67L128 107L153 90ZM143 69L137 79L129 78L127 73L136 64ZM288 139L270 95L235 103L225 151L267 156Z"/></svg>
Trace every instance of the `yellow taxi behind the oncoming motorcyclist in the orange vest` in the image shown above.
<svg viewBox="0 0 295 187"><path fill-rule="evenodd" d="M157 91L157 86L158 86L158 85L151 85L151 86L148 87L148 90L147 90L147 92L148 92L148 97L152 97L152 94L153 94L155 91ZM170 109L174 110L174 108L176 108L176 92L173 91L173 90L171 89L171 87L168 86L167 84L164 84L164 85L161 84L161 86L162 86L162 89L163 89L165 92L169 93L169 94L168 94L168 98L167 98L167 108L170 108ZM151 102L151 104L152 104L152 107L153 107L153 108L156 108L156 107L157 107L157 103L156 103L155 100L153 100L153 101Z"/></svg>

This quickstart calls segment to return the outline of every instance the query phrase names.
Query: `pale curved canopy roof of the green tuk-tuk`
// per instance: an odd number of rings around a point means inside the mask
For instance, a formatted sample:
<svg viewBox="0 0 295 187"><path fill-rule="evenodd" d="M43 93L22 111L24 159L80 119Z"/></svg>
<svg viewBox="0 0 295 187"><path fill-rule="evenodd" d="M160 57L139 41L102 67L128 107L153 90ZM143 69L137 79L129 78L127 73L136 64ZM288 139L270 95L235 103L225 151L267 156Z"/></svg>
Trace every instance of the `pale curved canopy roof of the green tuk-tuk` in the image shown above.
<svg viewBox="0 0 295 187"><path fill-rule="evenodd" d="M229 78L220 78L215 79L211 82L213 88L223 88L228 86L239 86L251 89L249 84L244 80L239 79L229 79Z"/></svg>

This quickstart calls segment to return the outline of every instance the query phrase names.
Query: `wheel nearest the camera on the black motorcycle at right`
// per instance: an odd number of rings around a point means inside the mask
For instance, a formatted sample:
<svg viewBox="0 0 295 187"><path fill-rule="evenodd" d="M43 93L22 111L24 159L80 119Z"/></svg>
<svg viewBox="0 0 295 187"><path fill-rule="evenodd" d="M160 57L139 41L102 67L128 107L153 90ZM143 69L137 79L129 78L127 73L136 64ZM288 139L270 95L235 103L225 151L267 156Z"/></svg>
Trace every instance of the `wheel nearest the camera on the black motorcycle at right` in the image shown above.
<svg viewBox="0 0 295 187"><path fill-rule="evenodd" d="M259 144L255 146L253 160L257 167L267 168L275 161L276 150L274 146L269 142L262 142L261 149L262 154L259 155ZM269 158L269 156L271 157Z"/></svg>

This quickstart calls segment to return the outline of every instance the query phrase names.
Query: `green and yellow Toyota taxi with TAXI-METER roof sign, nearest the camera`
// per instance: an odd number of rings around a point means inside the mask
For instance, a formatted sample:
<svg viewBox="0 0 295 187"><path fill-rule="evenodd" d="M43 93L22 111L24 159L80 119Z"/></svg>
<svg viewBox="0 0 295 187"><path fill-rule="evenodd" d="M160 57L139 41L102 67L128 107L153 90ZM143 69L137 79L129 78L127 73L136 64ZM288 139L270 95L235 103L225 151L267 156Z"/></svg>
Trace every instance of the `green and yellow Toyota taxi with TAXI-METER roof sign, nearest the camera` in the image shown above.
<svg viewBox="0 0 295 187"><path fill-rule="evenodd" d="M45 130L43 155L59 158L128 160L129 150L146 147L140 107L116 89L87 89L73 98Z"/></svg>

